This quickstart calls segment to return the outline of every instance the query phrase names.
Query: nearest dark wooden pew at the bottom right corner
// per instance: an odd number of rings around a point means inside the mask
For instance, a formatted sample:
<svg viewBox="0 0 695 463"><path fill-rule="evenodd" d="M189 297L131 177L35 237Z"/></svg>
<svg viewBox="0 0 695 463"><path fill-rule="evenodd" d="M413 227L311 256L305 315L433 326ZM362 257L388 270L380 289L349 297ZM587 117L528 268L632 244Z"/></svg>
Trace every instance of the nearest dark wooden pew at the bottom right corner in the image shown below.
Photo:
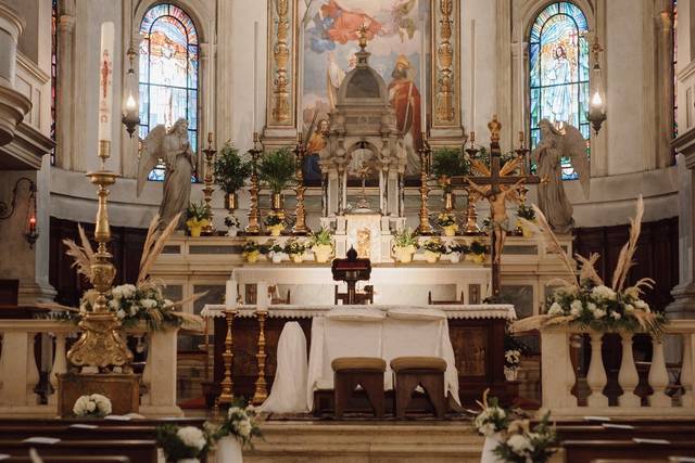
<svg viewBox="0 0 695 463"><path fill-rule="evenodd" d="M643 462L665 455L695 456L695 442L636 443L633 440L565 440L566 463L586 463L598 459L628 459Z"/></svg>

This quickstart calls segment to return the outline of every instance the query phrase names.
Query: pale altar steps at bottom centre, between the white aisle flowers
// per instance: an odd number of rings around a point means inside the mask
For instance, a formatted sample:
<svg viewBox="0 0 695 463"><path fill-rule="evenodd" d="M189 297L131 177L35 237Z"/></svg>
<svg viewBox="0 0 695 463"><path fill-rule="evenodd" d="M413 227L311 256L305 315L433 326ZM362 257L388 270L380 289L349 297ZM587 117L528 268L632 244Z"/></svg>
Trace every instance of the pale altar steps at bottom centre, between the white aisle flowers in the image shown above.
<svg viewBox="0 0 695 463"><path fill-rule="evenodd" d="M480 462L483 438L468 422L270 421L247 463Z"/></svg>

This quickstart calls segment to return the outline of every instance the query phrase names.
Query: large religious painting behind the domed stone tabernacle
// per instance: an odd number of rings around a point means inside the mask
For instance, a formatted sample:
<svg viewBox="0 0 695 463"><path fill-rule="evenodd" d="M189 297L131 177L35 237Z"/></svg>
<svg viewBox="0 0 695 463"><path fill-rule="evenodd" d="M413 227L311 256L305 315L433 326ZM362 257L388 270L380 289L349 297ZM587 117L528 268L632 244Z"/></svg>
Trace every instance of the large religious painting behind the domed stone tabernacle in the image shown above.
<svg viewBox="0 0 695 463"><path fill-rule="evenodd" d="M317 159L326 145L328 113L336 107L341 82L357 63L357 29L363 24L369 64L387 82L406 150L417 153L425 118L420 64L424 35L429 43L430 0L306 0L300 2L299 15L303 28L299 124L304 133L311 133L304 166L307 184L320 184Z"/></svg>

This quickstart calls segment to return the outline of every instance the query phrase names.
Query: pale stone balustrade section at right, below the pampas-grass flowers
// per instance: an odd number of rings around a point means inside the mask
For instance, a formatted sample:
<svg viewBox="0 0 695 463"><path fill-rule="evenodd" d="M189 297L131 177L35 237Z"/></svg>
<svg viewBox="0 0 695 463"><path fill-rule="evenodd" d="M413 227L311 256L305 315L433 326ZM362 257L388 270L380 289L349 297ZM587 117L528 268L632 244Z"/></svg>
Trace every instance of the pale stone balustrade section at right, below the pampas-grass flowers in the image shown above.
<svg viewBox="0 0 695 463"><path fill-rule="evenodd" d="M577 375L571 362L571 343L576 334L587 334L591 339L591 358L586 373L586 385L591 393L585 404L572 395ZM581 330L571 326L554 326L541 329L541 381L542 408L552 411L552 416L684 416L695 417L693 402L693 371L695 368L695 320L673 320L666 326L666 334L652 338L652 362L647 376L653 394L642 404L641 397L635 395L640 376L633 357L633 334L616 333L621 338L621 362L618 384L622 394L618 393L617 404L609 406L604 394L608 376L602 356L604 333L593 330ZM665 345L669 351L677 352L671 382L665 356ZM682 352L682 353L678 353ZM667 393L670 393L667 394ZM580 406L580 403L582 403Z"/></svg>

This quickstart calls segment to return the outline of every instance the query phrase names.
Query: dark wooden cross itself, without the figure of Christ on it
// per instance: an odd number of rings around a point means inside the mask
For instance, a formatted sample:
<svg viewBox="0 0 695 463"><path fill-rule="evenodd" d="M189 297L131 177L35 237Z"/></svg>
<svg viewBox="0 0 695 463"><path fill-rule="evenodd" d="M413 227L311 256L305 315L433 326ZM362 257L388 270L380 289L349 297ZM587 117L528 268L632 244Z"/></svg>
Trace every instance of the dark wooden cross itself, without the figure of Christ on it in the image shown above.
<svg viewBox="0 0 695 463"><path fill-rule="evenodd" d="M473 169L478 170L481 173L488 171L488 176L480 177L471 177L470 180L468 177L453 177L452 184L459 187L471 187L471 182L473 182L478 187L488 185L489 191L484 197L489 197L490 195L500 194L503 192L502 187L507 185L508 188L518 188L523 183L539 183L540 178L538 176L532 176L528 173L523 173L520 176L511 176L507 173L511 173L516 170L517 167L526 165L526 154L528 150L519 149L516 150L517 158L505 163L504 166L500 165L500 158L502 156L502 152L500 151L500 130L502 129L502 124L497 120L497 115L492 116L492 120L488 123L488 129L490 129L490 168L488 169L480 162L472 162ZM520 138L520 141L522 139ZM526 172L526 169L522 169L522 172ZM470 193L469 193L470 194ZM469 196L470 201L470 196ZM491 210L492 214L492 210ZM492 216L491 216L492 220ZM496 242L495 242L495 223L491 223L490 227L490 253L492 260L492 297L493 299L500 296L500 287L501 287L501 273L500 273L500 260L502 256L497 256Z"/></svg>

